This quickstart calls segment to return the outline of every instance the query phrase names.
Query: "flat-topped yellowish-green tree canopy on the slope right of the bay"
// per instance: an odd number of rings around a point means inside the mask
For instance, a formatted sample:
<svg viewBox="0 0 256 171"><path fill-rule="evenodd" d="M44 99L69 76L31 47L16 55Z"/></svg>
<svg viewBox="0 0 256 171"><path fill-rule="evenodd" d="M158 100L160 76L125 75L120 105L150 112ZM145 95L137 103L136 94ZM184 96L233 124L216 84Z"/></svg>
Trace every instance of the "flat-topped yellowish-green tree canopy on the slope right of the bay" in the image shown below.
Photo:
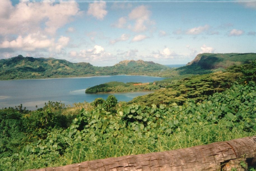
<svg viewBox="0 0 256 171"><path fill-rule="evenodd" d="M211 74L196 75L181 80L157 81L156 85L162 89L154 93L134 98L129 104L165 104L173 102L182 105L187 98L201 102L215 92L230 88L232 83L241 77L241 73L216 72Z"/></svg>

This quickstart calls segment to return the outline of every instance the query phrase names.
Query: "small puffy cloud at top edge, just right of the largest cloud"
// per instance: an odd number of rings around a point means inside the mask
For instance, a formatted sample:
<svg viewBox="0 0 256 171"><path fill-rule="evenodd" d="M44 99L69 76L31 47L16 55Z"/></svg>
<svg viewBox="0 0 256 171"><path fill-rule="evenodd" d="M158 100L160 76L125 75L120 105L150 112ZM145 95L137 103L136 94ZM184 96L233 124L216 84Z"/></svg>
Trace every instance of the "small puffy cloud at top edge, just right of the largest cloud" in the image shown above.
<svg viewBox="0 0 256 171"><path fill-rule="evenodd" d="M103 20L107 13L105 1L94 1L94 3L89 4L88 15L92 15L98 20Z"/></svg>

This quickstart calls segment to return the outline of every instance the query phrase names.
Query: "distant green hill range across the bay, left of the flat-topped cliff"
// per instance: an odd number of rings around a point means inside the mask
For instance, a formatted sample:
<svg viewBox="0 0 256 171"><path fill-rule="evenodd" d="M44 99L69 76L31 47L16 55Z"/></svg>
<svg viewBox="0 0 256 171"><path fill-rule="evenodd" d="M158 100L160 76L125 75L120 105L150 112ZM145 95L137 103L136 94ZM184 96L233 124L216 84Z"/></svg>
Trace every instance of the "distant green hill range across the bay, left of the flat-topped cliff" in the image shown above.
<svg viewBox="0 0 256 171"><path fill-rule="evenodd" d="M87 62L72 63L62 59L23 57L22 55L0 60L0 80L64 78L99 75L153 75L168 70L154 62L121 61L110 67L96 67Z"/></svg>

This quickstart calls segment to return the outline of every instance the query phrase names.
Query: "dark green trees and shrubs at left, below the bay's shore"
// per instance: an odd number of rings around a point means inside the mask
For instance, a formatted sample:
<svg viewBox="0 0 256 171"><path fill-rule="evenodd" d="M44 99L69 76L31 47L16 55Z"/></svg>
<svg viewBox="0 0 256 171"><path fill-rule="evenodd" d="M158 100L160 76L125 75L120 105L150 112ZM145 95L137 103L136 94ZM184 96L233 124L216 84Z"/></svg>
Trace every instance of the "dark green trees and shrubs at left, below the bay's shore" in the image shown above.
<svg viewBox="0 0 256 171"><path fill-rule="evenodd" d="M18 153L29 142L45 139L54 127L69 127L77 113L64 115L62 109L64 104L48 102L35 111L24 110L22 105L0 110L0 157Z"/></svg>

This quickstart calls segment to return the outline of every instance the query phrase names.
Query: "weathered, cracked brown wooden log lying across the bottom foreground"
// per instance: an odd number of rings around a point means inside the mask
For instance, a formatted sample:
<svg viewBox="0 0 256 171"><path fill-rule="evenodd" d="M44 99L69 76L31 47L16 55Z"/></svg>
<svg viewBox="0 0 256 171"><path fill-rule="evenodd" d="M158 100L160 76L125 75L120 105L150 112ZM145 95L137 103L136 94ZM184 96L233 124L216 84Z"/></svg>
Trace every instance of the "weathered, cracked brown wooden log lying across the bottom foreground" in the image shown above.
<svg viewBox="0 0 256 171"><path fill-rule="evenodd" d="M121 156L86 161L63 167L32 169L29 171L100 171L100 170L247 170L255 165L256 136L216 142L179 150Z"/></svg>

